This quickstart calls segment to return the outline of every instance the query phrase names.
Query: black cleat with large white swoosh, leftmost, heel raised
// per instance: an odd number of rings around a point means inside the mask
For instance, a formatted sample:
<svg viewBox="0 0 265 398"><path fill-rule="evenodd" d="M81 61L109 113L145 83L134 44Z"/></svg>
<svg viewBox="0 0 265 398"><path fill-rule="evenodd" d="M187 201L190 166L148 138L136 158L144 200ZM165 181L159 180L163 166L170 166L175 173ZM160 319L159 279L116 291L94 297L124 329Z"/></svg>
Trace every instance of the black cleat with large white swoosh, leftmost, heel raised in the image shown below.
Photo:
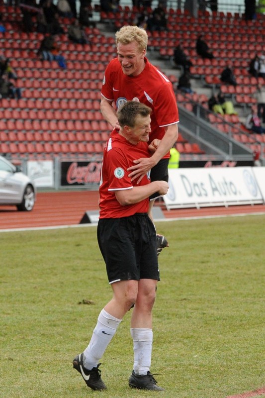
<svg viewBox="0 0 265 398"><path fill-rule="evenodd" d="M83 353L77 355L73 360L73 368L81 374L90 389L106 390L107 388L100 376L101 370L98 369L99 365L101 364L98 364L96 368L92 368L91 370L86 369L83 365Z"/></svg>

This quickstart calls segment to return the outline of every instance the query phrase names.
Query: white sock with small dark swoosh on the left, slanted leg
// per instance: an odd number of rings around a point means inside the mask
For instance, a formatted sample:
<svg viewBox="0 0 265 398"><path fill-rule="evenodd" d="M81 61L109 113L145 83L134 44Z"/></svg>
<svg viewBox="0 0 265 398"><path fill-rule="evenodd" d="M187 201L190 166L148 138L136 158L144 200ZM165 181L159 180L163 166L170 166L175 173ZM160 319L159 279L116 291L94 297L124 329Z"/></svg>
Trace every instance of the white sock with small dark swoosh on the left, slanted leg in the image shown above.
<svg viewBox="0 0 265 398"><path fill-rule="evenodd" d="M84 351L83 362L85 368L91 370L97 366L120 322L121 319L110 315L104 308L101 310L91 340Z"/></svg>

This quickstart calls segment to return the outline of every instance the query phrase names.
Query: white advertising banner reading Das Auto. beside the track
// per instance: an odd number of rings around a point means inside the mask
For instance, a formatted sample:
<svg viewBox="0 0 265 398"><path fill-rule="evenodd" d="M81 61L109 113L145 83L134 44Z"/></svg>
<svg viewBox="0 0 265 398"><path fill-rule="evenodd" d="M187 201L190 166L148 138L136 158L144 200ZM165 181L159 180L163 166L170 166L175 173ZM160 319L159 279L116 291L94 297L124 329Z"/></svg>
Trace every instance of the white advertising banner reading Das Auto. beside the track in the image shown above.
<svg viewBox="0 0 265 398"><path fill-rule="evenodd" d="M263 203L252 167L169 169L168 209Z"/></svg>

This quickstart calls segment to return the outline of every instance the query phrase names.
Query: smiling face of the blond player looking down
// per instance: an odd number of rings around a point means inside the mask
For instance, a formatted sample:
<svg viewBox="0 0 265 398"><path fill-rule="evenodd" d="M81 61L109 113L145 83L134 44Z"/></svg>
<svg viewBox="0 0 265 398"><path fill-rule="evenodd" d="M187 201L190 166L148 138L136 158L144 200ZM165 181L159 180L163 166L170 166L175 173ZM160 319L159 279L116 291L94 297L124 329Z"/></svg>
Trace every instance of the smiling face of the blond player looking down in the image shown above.
<svg viewBox="0 0 265 398"><path fill-rule="evenodd" d="M144 70L146 50L140 52L135 41L130 44L118 43L117 53L125 75L138 76Z"/></svg>

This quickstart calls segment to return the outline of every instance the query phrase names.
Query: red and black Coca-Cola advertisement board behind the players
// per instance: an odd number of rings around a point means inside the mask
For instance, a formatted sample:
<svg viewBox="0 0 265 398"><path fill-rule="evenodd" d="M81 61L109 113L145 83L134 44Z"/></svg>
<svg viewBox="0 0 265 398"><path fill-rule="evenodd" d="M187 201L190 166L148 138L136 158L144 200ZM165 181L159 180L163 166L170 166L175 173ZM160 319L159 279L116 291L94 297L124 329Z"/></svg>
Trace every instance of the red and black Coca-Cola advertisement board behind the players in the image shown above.
<svg viewBox="0 0 265 398"><path fill-rule="evenodd" d="M62 162L61 186L99 184L101 162Z"/></svg>

